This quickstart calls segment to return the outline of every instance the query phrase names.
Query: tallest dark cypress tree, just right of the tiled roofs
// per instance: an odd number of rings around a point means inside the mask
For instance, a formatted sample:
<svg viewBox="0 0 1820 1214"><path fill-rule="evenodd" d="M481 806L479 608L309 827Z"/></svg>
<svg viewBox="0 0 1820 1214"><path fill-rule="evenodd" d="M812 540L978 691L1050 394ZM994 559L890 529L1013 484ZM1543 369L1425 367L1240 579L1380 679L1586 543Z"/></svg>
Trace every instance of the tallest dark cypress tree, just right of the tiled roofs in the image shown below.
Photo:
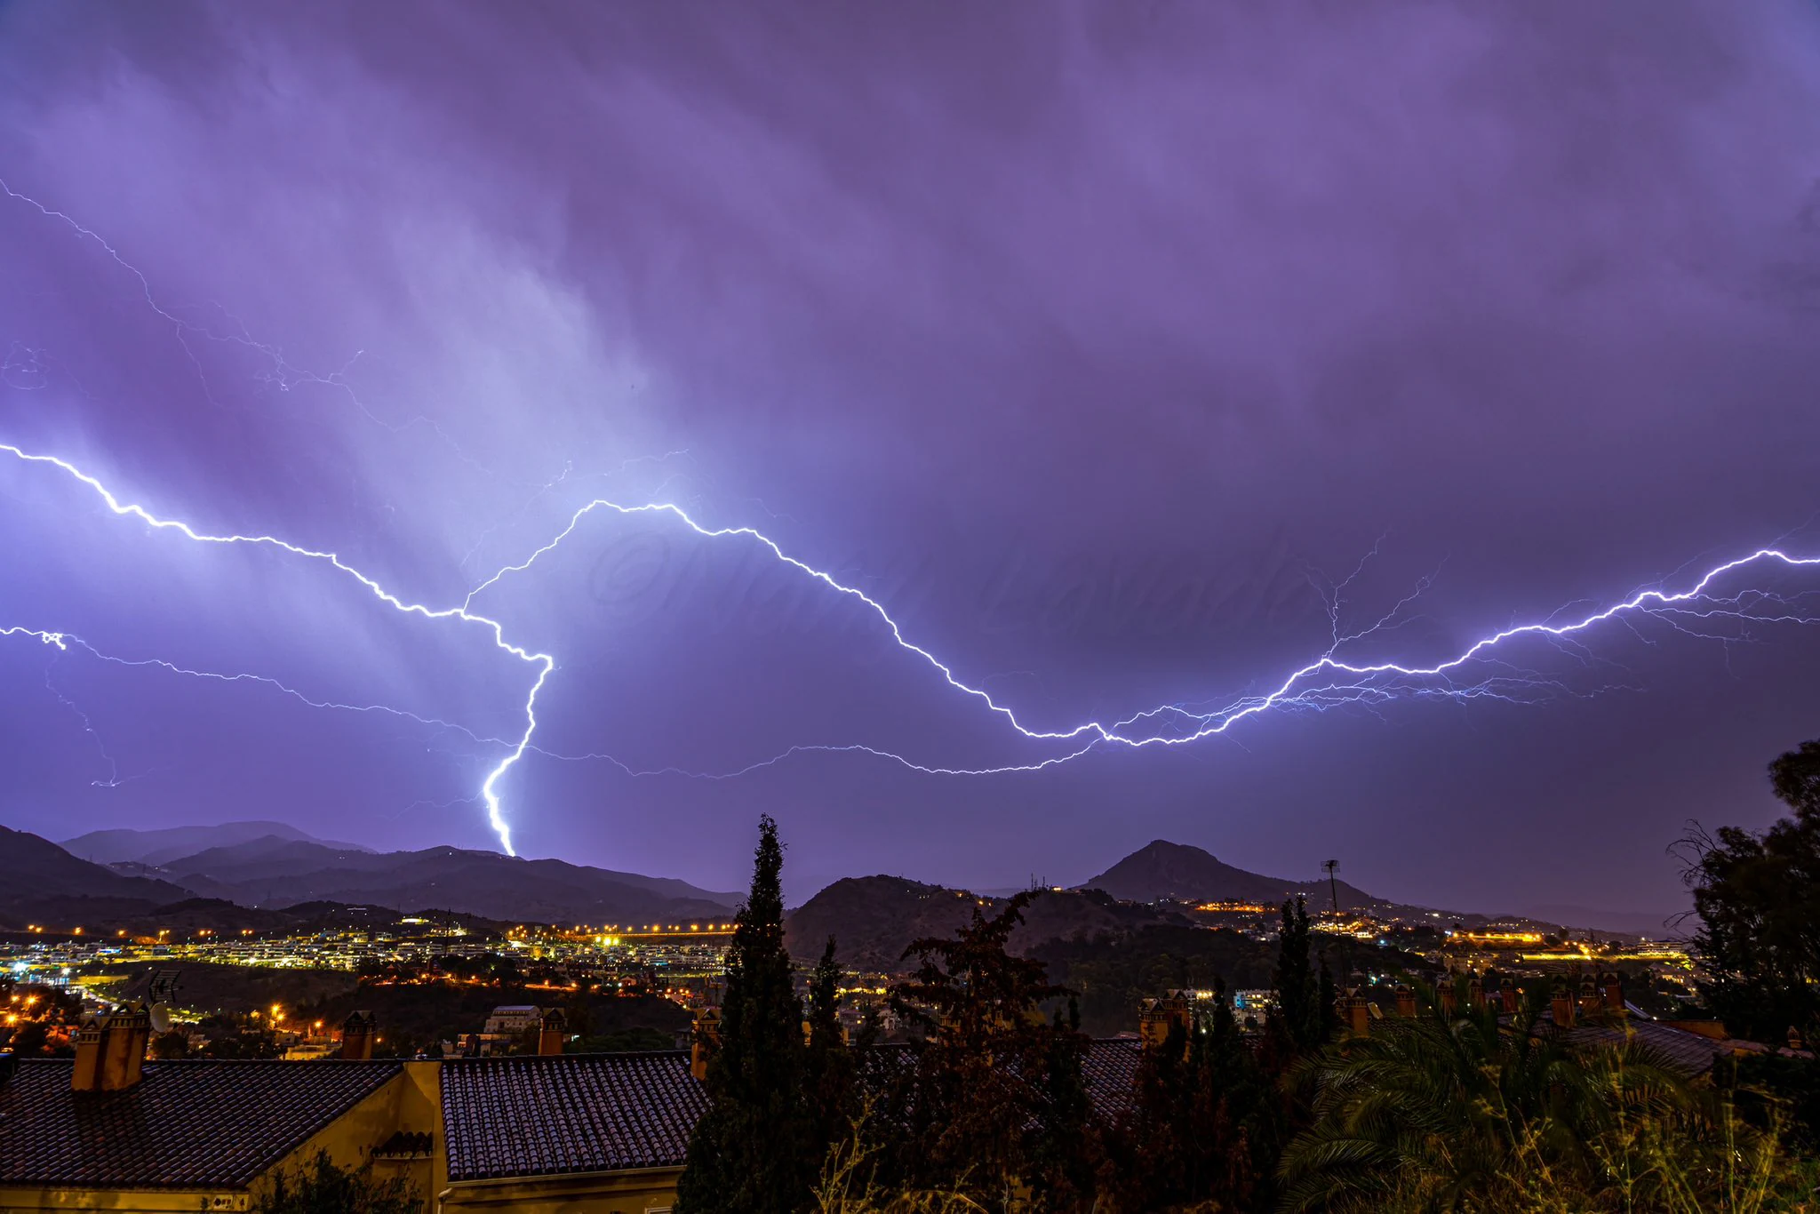
<svg viewBox="0 0 1820 1214"><path fill-rule="evenodd" d="M792 1214L821 1163L803 1096L803 1007L784 950L784 854L759 819L752 892L733 926L721 1045L708 1061L708 1112L677 1185L679 1214Z"/></svg>

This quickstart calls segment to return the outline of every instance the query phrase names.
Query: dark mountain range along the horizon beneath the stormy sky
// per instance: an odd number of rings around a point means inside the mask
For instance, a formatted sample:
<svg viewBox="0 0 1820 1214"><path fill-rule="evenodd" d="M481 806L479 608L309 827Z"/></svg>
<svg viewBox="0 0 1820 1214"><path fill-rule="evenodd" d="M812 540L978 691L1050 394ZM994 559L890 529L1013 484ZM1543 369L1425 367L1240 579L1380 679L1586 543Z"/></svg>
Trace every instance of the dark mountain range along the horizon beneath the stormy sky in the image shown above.
<svg viewBox="0 0 1820 1214"><path fill-rule="evenodd" d="M266 830L268 826L275 830ZM171 855L177 843L207 843ZM100 830L71 839L107 863L91 863L66 846L0 826L9 881L0 886L0 930L33 923L100 923L127 919L186 903L187 916L213 914L202 903L242 912L286 912L297 905L371 905L397 912L446 910L499 923L675 923L728 917L741 894L704 890L675 877L648 877L573 865L522 859L491 850L433 846L375 852L315 839L282 823L226 823L164 830ZM151 857L151 861L142 859ZM158 863L153 863L158 861ZM981 895L908 877L843 877L790 912L786 936L797 956L819 956L828 934L843 961L890 968L905 946L923 936L948 936L974 906L992 906L1006 892ZM1068 890L1045 890L1025 912L1017 948L1046 939L1119 932L1181 919L1181 905L1205 901L1274 906L1305 897L1325 910L1370 910L1401 917L1474 923L1483 914L1445 912L1376 897L1345 881L1272 877L1227 865L1210 852L1154 839L1105 872ZM200 901L198 901L200 899ZM1620 912L1549 908L1583 914L1605 930ZM1567 914L1551 916L1567 919ZM15 923L16 921L16 923ZM1633 923L1623 928L1638 930ZM1618 928L1618 930L1623 930ZM1656 928L1649 932L1660 936Z"/></svg>

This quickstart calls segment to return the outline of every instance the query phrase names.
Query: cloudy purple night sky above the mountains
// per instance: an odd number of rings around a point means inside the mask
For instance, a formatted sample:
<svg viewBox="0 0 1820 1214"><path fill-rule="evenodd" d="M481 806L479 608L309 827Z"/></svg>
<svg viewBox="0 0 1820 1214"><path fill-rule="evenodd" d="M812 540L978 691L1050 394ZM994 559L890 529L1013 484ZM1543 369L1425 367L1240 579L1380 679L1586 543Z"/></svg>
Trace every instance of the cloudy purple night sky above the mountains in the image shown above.
<svg viewBox="0 0 1820 1214"><path fill-rule="evenodd" d="M11 4L0 177L0 442L437 610L673 502L1041 732L1820 555L1809 4ZM93 646L0 639L5 825L497 846L486 626L55 464L0 544L0 628ZM1671 910L1820 735L1820 568L1753 588L997 775L628 774L1074 748L750 539L597 511L470 610L555 657L526 855Z"/></svg>

